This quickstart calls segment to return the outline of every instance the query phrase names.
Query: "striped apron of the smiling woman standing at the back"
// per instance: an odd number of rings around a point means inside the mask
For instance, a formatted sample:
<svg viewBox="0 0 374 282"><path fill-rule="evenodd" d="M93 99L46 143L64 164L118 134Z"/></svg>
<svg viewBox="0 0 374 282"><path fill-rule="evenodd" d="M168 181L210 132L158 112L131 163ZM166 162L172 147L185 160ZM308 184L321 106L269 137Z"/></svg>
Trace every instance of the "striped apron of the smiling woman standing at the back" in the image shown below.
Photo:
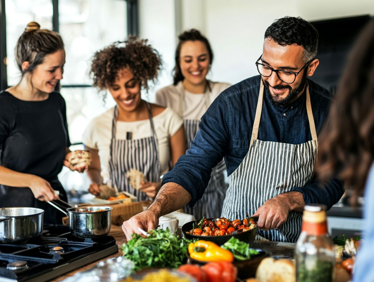
<svg viewBox="0 0 374 282"><path fill-rule="evenodd" d="M211 88L208 82L208 91L205 92L205 105L206 109L210 106L209 93ZM181 99L179 105L179 115L183 117L183 102L184 102L184 88L182 87ZM186 134L186 145L187 149L191 147L191 141L199 131L200 120L196 119L184 119L184 131ZM220 161L216 167L212 169L211 179L206 187L203 197L196 202L194 207L184 207L184 212L194 215L196 219L200 219L203 216L205 218L217 218L220 216L222 211L222 205L226 194L227 184L224 179L224 171L226 170L226 164L224 160Z"/></svg>

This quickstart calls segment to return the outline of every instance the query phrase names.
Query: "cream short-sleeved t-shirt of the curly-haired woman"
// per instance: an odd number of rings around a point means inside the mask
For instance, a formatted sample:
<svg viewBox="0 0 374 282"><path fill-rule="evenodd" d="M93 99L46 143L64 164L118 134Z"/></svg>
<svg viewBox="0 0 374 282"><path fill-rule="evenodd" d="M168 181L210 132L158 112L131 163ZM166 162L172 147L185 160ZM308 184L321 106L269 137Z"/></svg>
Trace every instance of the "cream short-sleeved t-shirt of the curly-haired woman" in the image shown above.
<svg viewBox="0 0 374 282"><path fill-rule="evenodd" d="M98 150L101 166L101 176L104 183L109 179L109 154L112 136L112 120L114 107L102 115L92 119L83 132L82 141L86 146ZM154 130L159 145L161 175L168 172L170 156L170 137L183 125L182 119L172 109L167 107L163 112L153 117ZM146 138L152 135L149 119L142 121L117 121L116 139L126 139L126 132L132 132L132 139Z"/></svg>

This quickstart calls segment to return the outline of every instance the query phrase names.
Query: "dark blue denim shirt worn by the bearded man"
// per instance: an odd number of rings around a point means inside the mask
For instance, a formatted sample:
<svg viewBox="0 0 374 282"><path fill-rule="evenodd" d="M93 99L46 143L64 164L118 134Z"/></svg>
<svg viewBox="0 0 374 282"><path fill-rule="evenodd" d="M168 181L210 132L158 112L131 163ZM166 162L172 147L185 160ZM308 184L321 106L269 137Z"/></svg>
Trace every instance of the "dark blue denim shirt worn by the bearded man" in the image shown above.
<svg viewBox="0 0 374 282"><path fill-rule="evenodd" d="M211 170L224 158L227 174L236 170L249 151L256 113L260 76L245 79L223 91L203 115L191 148L175 167L163 176L162 184L175 182L199 200L208 184ZM308 79L310 101L317 134L328 116L330 93ZM277 107L264 93L258 139L290 144L312 140L306 110L306 91L287 107ZM328 209L343 195L343 182L332 179L321 185L314 177L304 187L292 191L303 194L306 204L325 204Z"/></svg>

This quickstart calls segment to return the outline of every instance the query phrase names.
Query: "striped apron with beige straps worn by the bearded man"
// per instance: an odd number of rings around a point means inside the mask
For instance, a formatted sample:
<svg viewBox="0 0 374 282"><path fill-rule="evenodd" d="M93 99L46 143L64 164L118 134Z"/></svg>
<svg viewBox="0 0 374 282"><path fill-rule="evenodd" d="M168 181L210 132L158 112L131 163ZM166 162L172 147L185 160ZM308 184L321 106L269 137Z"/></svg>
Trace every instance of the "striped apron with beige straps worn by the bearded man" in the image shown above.
<svg viewBox="0 0 374 282"><path fill-rule="evenodd" d="M261 80L257 109L249 151L239 167L229 176L229 189L222 216L243 219L253 215L265 201L294 187L310 183L317 158L317 133L306 90L306 108L312 140L298 145L257 139L263 104L264 85ZM278 230L258 230L258 235L271 241L296 242L301 232L301 213L291 211Z"/></svg>

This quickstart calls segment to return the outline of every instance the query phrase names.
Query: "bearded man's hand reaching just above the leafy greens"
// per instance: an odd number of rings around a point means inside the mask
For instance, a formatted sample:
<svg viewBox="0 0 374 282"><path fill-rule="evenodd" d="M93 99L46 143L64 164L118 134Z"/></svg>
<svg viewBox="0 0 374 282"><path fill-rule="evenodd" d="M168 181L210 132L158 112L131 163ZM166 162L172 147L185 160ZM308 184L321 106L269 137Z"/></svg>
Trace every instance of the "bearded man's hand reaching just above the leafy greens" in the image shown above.
<svg viewBox="0 0 374 282"><path fill-rule="evenodd" d="M122 224L123 233L126 235L127 240L131 240L132 234L141 234L138 227L144 231L152 230L159 224L159 216L156 215L152 210L145 210L144 212L138 213L130 218L128 221L124 221Z"/></svg>

